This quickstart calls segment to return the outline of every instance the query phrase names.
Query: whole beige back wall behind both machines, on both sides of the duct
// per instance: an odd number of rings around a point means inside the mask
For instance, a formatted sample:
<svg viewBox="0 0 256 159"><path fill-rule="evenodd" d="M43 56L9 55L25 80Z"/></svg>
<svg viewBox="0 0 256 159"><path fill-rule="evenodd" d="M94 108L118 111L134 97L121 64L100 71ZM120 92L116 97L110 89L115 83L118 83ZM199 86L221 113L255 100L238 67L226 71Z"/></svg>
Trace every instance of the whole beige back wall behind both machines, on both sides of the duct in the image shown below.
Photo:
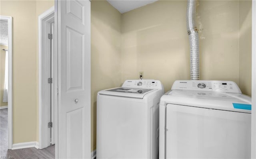
<svg viewBox="0 0 256 159"><path fill-rule="evenodd" d="M190 79L186 3L157 1L122 14L122 82L144 71L144 78L159 79L168 91L174 80ZM196 17L200 79L240 84L239 2L198 1Z"/></svg>

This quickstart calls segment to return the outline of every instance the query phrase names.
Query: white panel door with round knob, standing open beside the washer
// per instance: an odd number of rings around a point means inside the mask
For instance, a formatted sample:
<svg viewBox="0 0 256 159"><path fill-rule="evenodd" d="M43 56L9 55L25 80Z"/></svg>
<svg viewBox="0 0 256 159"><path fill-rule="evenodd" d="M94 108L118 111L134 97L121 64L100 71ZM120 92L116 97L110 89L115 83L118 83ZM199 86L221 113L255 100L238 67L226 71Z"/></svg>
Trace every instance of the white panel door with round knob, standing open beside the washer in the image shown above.
<svg viewBox="0 0 256 159"><path fill-rule="evenodd" d="M58 0L58 158L89 159L90 1Z"/></svg>

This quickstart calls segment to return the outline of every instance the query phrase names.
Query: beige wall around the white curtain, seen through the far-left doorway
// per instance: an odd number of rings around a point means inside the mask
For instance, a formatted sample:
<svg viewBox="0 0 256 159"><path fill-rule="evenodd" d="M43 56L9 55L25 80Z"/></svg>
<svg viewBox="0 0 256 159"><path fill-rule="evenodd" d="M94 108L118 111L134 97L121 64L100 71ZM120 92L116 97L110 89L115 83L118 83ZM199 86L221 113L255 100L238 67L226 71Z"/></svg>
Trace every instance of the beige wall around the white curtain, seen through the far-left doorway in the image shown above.
<svg viewBox="0 0 256 159"><path fill-rule="evenodd" d="M6 45L0 45L0 107L8 106L8 102L3 102L4 94L4 74L5 74L5 51L2 49L8 49Z"/></svg>

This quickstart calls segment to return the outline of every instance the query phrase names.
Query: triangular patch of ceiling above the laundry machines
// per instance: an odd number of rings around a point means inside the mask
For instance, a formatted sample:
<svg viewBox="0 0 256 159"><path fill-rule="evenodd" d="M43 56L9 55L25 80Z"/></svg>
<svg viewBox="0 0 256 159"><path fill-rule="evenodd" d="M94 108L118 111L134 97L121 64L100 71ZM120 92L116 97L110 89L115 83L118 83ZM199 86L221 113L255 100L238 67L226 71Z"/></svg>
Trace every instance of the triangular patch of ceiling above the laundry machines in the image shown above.
<svg viewBox="0 0 256 159"><path fill-rule="evenodd" d="M125 13L130 10L145 6L156 2L157 0L107 0L120 13Z"/></svg>

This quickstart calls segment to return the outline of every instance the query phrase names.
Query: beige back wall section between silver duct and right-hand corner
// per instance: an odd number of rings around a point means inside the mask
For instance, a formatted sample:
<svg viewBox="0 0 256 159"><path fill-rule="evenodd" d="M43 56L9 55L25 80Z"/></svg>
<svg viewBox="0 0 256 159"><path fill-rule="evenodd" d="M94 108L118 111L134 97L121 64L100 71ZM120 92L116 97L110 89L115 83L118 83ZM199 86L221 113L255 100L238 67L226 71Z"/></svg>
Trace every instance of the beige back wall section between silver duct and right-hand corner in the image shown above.
<svg viewBox="0 0 256 159"><path fill-rule="evenodd" d="M200 72L239 84L239 2L199 1Z"/></svg>

